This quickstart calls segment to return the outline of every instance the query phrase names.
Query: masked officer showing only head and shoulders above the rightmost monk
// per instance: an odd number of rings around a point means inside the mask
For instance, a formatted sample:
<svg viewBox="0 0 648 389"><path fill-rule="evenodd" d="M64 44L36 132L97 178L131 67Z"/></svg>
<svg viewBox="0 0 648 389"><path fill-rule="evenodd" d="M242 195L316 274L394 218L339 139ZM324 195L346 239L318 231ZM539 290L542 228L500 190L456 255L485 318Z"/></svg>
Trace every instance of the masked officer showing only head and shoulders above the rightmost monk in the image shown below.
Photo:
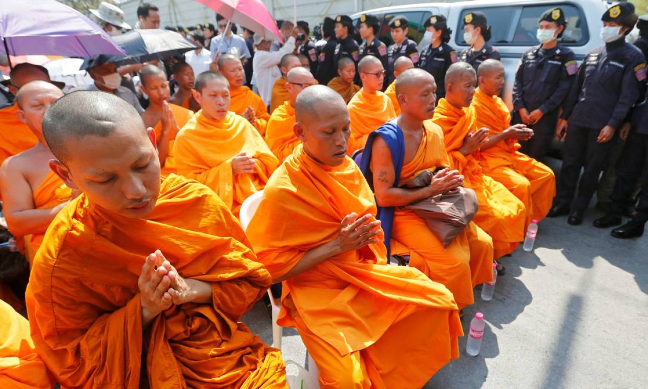
<svg viewBox="0 0 648 389"><path fill-rule="evenodd" d="M463 40L470 45L459 54L459 61L468 62L475 71L480 64L492 58L500 60L500 51L488 41L491 39L491 26L487 24L483 12L469 12L463 17Z"/></svg>

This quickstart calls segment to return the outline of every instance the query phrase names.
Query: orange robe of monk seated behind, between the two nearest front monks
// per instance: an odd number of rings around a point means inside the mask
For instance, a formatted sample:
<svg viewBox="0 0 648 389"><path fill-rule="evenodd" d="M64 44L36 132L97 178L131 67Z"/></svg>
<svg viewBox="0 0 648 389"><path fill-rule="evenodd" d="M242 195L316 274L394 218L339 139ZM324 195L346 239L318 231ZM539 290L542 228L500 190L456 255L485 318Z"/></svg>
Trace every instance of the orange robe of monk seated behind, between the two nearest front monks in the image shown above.
<svg viewBox="0 0 648 389"><path fill-rule="evenodd" d="M248 120L233 112L219 122L198 111L176 136L174 150L178 173L209 186L236 215L279 164ZM256 159L257 173L232 172L232 159L241 152Z"/></svg>

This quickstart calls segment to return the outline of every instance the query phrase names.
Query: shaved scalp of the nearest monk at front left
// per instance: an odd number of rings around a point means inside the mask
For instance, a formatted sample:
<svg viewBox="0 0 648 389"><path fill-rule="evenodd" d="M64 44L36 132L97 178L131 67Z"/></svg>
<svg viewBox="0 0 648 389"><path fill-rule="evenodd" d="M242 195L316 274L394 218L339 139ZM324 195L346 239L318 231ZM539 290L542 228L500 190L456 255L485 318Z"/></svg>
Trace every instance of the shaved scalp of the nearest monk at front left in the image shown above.
<svg viewBox="0 0 648 389"><path fill-rule="evenodd" d="M49 107L43 117L43 135L54 156L65 163L70 154L67 140L106 138L126 123L146 139L144 122L128 102L102 91L75 91Z"/></svg>

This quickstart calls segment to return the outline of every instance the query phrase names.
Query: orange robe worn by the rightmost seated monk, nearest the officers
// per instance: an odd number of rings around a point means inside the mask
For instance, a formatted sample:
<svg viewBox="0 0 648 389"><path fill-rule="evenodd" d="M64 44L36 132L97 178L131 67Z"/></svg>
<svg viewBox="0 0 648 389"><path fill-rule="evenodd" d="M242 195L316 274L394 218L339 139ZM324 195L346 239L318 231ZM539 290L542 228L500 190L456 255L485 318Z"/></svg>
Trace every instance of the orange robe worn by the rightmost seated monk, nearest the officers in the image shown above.
<svg viewBox="0 0 648 389"><path fill-rule="evenodd" d="M502 133L511 126L509 108L498 96L488 96L479 88L472 98L477 128L490 129L490 135ZM498 142L480 153L483 172L504 184L527 210L527 224L545 217L556 195L556 178L551 168L520 153L514 139Z"/></svg>

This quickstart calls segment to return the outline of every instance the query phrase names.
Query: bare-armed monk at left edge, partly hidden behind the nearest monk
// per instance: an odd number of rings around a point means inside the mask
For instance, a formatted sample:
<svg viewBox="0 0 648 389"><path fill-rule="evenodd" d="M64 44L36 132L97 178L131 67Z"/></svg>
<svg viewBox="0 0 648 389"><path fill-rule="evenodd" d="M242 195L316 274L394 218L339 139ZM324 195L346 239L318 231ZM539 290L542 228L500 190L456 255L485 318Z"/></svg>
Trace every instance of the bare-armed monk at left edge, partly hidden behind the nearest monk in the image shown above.
<svg viewBox="0 0 648 389"><path fill-rule="evenodd" d="M63 92L45 81L25 84L16 95L16 115L38 139L36 146L9 157L0 166L3 212L19 247L32 263L43 242L45 230L67 205L72 191L49 168L54 158L43 138L43 115Z"/></svg>

